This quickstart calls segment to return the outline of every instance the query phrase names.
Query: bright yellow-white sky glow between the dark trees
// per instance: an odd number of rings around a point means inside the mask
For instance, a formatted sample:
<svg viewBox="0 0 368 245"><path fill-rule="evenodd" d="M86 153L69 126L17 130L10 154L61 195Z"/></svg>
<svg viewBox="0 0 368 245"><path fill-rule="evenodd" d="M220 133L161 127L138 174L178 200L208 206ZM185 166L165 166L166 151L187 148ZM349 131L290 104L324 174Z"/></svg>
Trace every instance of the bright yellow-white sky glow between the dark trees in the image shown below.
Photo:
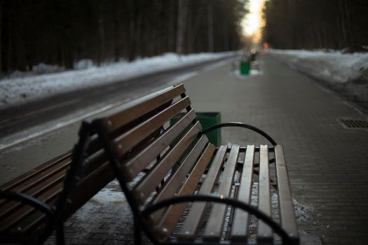
<svg viewBox="0 0 368 245"><path fill-rule="evenodd" d="M252 36L254 42L261 38L262 7L264 0L250 0L250 13L243 20L243 32L246 36Z"/></svg>

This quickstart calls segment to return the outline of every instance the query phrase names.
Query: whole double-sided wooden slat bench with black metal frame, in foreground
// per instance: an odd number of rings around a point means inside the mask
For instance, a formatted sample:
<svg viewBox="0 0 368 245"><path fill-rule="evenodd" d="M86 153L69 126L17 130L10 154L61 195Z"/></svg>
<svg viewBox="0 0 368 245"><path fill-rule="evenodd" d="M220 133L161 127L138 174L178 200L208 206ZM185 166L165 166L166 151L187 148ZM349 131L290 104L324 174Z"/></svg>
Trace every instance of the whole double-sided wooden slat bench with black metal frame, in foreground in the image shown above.
<svg viewBox="0 0 368 245"><path fill-rule="evenodd" d="M272 146L216 147L205 134L219 127L247 128ZM42 242L56 230L63 244L64 221L116 177L137 244L141 231L156 244L299 244L282 146L243 123L203 130L183 85L84 121L73 153L1 186L1 241Z"/></svg>

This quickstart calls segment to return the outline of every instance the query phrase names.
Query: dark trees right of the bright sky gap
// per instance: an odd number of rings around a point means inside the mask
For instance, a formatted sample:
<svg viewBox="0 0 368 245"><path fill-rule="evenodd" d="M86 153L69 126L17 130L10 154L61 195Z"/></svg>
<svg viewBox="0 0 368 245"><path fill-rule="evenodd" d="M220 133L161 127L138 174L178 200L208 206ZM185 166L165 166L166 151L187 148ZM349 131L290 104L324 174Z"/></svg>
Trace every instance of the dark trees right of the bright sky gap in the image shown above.
<svg viewBox="0 0 368 245"><path fill-rule="evenodd" d="M274 48L348 48L368 45L364 0L269 0L264 40Z"/></svg>

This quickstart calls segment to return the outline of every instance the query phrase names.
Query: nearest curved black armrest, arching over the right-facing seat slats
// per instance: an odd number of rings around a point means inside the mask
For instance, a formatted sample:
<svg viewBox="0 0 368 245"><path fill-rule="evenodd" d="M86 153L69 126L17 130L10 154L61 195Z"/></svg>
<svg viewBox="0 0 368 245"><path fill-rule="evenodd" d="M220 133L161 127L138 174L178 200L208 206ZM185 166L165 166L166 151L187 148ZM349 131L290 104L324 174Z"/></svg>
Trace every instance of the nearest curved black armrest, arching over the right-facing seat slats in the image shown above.
<svg viewBox="0 0 368 245"><path fill-rule="evenodd" d="M179 204L182 202L217 202L226 205L231 205L238 209L243 209L243 211L247 211L250 214L253 214L261 221L269 225L273 229L273 231L281 237L282 244L290 244L290 245L295 244L295 242L293 242L293 240L287 235L287 232L278 223L273 221L271 217L267 216L266 214L259 211L255 207L252 207L250 204L240 202L238 200L234 200L228 197L220 197L218 195L182 195L171 197L161 202L157 202L156 204L147 206L142 211L142 216L147 217L149 216L149 214L153 213L154 211L157 211L158 209L162 209L172 204Z"/></svg>

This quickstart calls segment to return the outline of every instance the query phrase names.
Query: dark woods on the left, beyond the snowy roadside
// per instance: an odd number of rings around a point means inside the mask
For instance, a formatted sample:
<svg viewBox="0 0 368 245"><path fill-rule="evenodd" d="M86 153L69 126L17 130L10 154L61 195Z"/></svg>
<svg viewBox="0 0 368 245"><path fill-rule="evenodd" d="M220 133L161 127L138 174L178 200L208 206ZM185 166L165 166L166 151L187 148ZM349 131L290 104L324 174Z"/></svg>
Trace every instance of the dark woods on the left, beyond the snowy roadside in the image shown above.
<svg viewBox="0 0 368 245"><path fill-rule="evenodd" d="M2 73L240 48L247 0L0 0Z"/></svg>

